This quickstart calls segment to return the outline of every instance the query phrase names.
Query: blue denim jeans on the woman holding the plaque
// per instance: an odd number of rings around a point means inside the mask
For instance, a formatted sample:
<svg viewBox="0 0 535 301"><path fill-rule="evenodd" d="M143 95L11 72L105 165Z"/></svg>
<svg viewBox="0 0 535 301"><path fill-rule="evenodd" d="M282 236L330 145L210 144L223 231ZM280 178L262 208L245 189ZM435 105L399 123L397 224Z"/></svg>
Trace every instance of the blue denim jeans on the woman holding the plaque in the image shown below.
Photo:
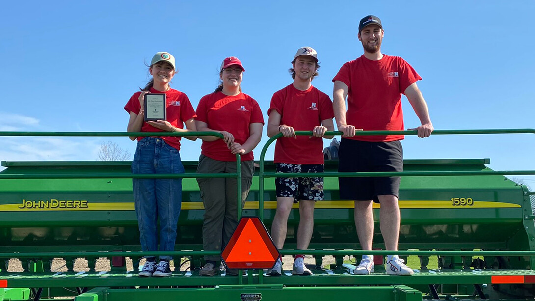
<svg viewBox="0 0 535 301"><path fill-rule="evenodd" d="M184 166L177 149L161 138L146 137L137 142L132 174L184 174ZM141 250L158 251L159 218L159 251L174 251L182 204L182 179L132 179L132 188ZM160 257L160 260L171 259L171 256Z"/></svg>

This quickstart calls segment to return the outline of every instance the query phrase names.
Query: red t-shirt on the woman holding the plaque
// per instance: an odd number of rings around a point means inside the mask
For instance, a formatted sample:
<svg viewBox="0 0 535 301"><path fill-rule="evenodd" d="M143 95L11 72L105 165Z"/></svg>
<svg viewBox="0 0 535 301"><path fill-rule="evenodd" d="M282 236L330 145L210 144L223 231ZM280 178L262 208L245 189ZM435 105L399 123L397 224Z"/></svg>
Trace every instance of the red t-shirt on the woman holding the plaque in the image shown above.
<svg viewBox="0 0 535 301"><path fill-rule="evenodd" d="M189 102L188 96L186 94L174 90L169 89L167 92L161 92L156 90L155 88L150 88L150 93L165 93L165 99L167 101L167 108L166 108L166 120L169 121L172 125L178 127L179 129L184 129L183 123L185 121L188 121L189 119L197 117L195 115L195 110L193 109L192 103ZM138 91L130 97L128 102L125 105L125 111L130 114L130 112L133 112L134 114L139 115L139 111L141 109L141 104L139 103L139 95L141 94L141 91ZM143 125L141 125L141 132L165 132L164 130L157 129L156 127L143 122ZM150 137L159 137L159 136L150 136ZM137 137L137 141L143 139L145 137ZM181 137L172 137L172 136L165 136L165 137L159 137L162 138L167 144L170 146L178 149L180 151L180 138Z"/></svg>

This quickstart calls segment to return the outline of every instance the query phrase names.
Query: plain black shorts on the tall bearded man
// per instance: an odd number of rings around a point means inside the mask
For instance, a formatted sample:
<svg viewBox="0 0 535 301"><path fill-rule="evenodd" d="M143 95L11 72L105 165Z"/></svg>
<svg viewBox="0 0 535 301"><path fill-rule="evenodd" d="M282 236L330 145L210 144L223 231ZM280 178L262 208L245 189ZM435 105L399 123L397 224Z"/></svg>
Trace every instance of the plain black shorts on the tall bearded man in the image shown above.
<svg viewBox="0 0 535 301"><path fill-rule="evenodd" d="M400 141L340 141L339 172L403 171L403 147ZM338 178L341 200L379 202L378 195L399 194L400 177Z"/></svg>

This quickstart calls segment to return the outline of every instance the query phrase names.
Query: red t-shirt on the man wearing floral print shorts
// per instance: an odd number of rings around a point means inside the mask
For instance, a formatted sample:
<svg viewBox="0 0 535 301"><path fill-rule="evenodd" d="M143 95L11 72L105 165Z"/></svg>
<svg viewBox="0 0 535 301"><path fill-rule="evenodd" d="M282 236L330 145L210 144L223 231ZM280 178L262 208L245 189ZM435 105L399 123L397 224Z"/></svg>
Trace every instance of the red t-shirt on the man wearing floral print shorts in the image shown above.
<svg viewBox="0 0 535 301"><path fill-rule="evenodd" d="M271 110L280 115L280 124L292 126L296 131L311 131L321 125L322 120L332 119L333 103L327 94L315 87L300 91L288 85L273 94ZM279 138L275 146L273 162L291 164L323 164L323 138L296 136Z"/></svg>

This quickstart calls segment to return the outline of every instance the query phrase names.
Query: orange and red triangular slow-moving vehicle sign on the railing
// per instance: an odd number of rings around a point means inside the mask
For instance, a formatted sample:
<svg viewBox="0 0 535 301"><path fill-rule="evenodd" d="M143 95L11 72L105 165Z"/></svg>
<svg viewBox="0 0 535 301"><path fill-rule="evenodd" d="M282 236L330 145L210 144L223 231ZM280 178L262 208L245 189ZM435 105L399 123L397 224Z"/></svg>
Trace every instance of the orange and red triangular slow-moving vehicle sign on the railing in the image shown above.
<svg viewBox="0 0 535 301"><path fill-rule="evenodd" d="M221 259L231 269L272 268L279 256L268 230L256 216L241 218L221 253Z"/></svg>

